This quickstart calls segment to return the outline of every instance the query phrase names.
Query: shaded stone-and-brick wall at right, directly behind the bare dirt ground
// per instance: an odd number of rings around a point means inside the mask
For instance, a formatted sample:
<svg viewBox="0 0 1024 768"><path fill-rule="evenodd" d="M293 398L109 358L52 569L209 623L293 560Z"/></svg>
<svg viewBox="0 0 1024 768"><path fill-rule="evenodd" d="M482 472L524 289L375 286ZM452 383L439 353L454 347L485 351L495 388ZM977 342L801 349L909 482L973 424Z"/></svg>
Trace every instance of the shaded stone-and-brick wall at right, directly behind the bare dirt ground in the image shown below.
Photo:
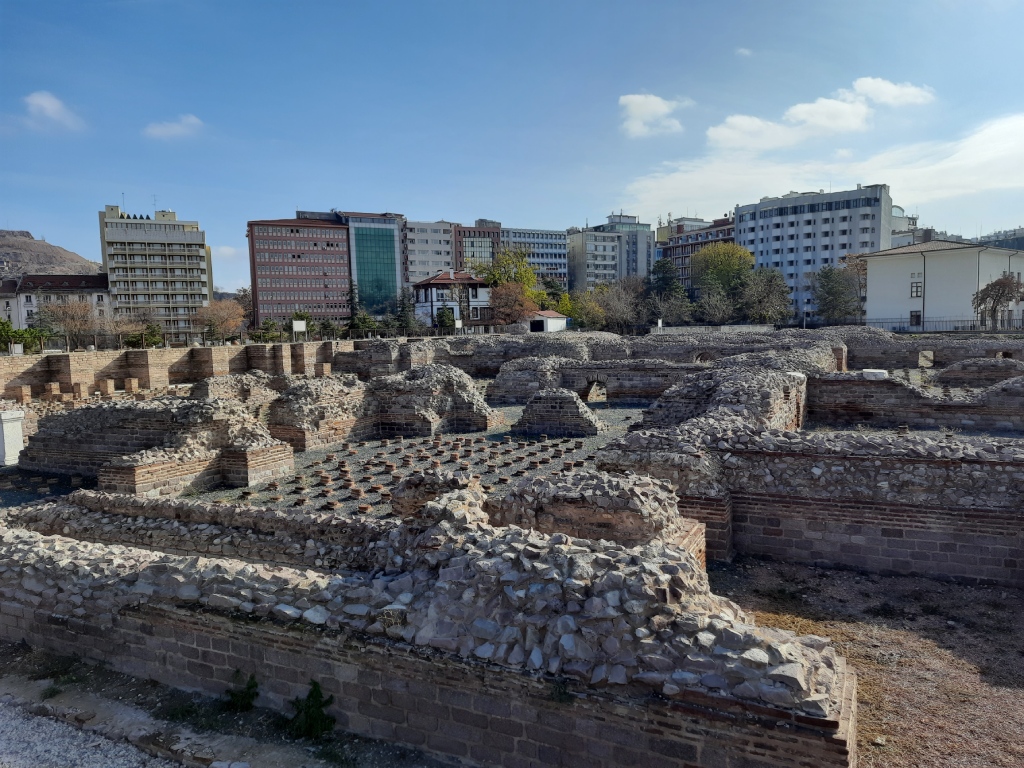
<svg viewBox="0 0 1024 768"><path fill-rule="evenodd" d="M1022 440L710 427L630 433L598 466L671 482L712 557L1024 583Z"/></svg>

